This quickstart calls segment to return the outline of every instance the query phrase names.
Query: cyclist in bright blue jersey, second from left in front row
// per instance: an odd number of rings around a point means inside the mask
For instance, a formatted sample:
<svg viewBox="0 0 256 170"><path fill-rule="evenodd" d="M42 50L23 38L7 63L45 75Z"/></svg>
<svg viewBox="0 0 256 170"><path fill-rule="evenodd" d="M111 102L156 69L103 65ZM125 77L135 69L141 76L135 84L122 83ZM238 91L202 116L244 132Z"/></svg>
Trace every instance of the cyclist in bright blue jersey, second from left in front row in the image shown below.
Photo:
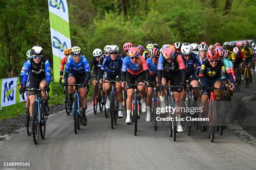
<svg viewBox="0 0 256 170"><path fill-rule="evenodd" d="M81 99L81 106L82 106L82 124L84 126L87 125L87 119L85 115L85 110L87 109L87 102L86 102L86 93L87 93L87 86L90 80L90 66L87 59L82 55L81 48L78 46L74 46L71 48L70 52L71 57L67 61L67 65L65 68L65 75L64 75L64 85L67 84L83 84L82 87L79 88L79 97ZM69 110L72 109L73 104L73 92L74 87L68 87L69 92Z"/></svg>

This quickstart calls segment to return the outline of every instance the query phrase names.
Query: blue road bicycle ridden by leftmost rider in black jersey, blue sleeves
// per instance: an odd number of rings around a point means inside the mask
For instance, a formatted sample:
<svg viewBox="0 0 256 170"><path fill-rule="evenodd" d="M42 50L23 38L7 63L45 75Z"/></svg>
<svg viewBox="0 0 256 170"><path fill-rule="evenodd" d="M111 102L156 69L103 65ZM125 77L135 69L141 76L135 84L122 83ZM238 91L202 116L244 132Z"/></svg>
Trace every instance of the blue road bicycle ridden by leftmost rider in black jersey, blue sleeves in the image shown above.
<svg viewBox="0 0 256 170"><path fill-rule="evenodd" d="M46 120L48 116L45 116L45 100L41 95L42 89L27 89L25 91L28 92L36 92L36 98L33 103L32 110L32 120L30 121L30 126L32 127L32 134L34 143L37 145L39 141L39 131L41 135L41 139L45 138L46 132ZM46 91L48 96L48 93ZM22 95L23 100L25 100L24 94ZM29 125L27 125L29 127Z"/></svg>

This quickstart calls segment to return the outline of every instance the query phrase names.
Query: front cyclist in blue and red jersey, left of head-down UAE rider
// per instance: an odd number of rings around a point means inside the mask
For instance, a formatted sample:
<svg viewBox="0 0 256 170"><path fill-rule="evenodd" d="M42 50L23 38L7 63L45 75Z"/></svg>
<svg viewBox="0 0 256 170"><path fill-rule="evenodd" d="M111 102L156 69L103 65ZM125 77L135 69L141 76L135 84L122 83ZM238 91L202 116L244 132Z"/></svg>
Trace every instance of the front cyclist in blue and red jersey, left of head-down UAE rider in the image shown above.
<svg viewBox="0 0 256 170"><path fill-rule="evenodd" d="M132 98L134 93L134 86L131 84L135 84L135 80L137 80L138 84L146 83L148 85L148 65L144 57L139 55L139 50L137 47L131 47L128 51L128 55L123 60L122 67L122 87L124 84L127 86L127 100L126 100L126 112L127 117L125 123L128 125L131 124L131 105ZM128 84L128 85L127 85ZM141 96L141 111L146 112L146 103L145 103L145 88L144 86L138 86L138 92Z"/></svg>

